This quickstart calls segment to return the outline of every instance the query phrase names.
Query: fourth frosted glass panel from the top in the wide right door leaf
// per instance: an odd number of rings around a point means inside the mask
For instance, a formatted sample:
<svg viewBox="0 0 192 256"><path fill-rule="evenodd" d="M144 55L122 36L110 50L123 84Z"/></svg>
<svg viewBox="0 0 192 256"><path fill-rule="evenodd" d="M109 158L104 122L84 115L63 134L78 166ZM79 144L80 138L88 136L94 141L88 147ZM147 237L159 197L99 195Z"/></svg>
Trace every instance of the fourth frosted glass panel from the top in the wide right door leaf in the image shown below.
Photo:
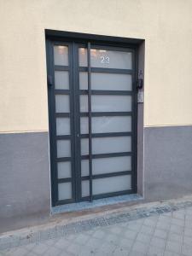
<svg viewBox="0 0 192 256"><path fill-rule="evenodd" d="M92 133L131 131L131 116L92 117ZM89 119L80 119L81 134L89 133Z"/></svg>

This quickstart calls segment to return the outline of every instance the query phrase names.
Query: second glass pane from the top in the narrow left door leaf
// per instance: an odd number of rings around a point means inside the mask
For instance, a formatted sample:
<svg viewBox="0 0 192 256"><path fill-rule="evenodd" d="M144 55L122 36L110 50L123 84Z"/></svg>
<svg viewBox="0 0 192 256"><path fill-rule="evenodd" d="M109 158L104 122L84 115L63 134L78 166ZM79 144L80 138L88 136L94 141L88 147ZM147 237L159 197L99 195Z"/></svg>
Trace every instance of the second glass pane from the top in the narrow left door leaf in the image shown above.
<svg viewBox="0 0 192 256"><path fill-rule="evenodd" d="M67 71L55 71L55 89L69 89Z"/></svg>

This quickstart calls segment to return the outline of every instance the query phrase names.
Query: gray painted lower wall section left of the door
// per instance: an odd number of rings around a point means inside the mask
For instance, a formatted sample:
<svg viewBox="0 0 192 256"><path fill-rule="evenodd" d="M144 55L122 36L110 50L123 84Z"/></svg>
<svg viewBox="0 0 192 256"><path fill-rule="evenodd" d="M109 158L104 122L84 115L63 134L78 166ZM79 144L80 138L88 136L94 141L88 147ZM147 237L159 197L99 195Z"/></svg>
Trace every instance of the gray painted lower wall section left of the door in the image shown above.
<svg viewBox="0 0 192 256"><path fill-rule="evenodd" d="M0 145L1 229L49 216L48 132L1 134Z"/></svg>

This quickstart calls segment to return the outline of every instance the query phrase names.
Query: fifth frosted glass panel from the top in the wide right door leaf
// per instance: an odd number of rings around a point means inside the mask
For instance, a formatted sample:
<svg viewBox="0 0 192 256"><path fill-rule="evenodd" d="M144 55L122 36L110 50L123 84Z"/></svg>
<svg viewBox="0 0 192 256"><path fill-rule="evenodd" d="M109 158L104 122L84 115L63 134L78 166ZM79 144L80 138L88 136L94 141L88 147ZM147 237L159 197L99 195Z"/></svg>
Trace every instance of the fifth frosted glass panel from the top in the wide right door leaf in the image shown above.
<svg viewBox="0 0 192 256"><path fill-rule="evenodd" d="M92 153L106 154L131 152L131 137L94 137L92 138ZM81 139L81 154L89 154L89 139Z"/></svg>

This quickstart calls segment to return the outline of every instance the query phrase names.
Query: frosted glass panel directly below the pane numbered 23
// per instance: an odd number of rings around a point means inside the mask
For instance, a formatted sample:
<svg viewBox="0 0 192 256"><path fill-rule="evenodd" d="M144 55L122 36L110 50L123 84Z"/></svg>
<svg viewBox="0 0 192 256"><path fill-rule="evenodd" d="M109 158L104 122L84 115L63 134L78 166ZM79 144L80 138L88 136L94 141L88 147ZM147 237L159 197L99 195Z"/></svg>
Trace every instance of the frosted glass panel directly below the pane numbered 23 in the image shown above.
<svg viewBox="0 0 192 256"><path fill-rule="evenodd" d="M79 88L88 90L88 75L79 73ZM124 73L91 73L92 90L132 90L132 76Z"/></svg>

